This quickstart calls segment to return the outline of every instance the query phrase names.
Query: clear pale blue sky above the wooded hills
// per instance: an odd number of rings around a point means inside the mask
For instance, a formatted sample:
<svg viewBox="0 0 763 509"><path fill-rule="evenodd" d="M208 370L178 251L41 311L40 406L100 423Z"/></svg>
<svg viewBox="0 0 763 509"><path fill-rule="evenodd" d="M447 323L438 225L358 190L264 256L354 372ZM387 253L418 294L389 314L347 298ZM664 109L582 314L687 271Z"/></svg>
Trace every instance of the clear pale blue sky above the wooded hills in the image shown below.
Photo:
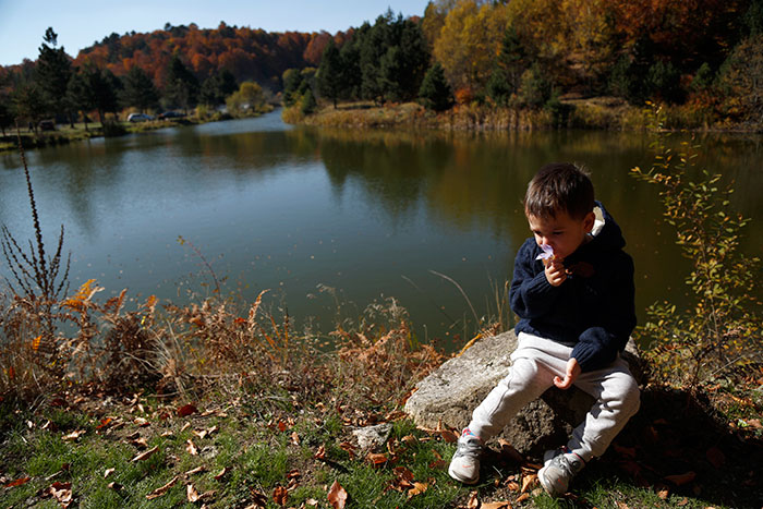
<svg viewBox="0 0 763 509"><path fill-rule="evenodd" d="M404 16L424 15L427 0L0 0L0 65L36 59L48 26L59 46L76 53L116 32L152 32L165 23L199 28L229 25L268 32L331 34L364 21L373 22L391 8Z"/></svg>

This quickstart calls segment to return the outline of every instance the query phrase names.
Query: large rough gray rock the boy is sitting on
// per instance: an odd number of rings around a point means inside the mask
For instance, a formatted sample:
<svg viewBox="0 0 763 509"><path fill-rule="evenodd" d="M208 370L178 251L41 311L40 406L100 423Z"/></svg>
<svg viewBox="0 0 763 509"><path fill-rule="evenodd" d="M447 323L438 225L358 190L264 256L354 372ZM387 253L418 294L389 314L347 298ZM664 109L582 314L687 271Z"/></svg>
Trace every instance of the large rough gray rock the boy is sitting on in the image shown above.
<svg viewBox="0 0 763 509"><path fill-rule="evenodd" d="M405 412L423 427L434 428L441 422L445 426L463 428L472 411L509 373L510 355L516 348L513 331L476 341L420 381L405 403ZM622 356L637 380L642 381L642 363L632 340ZM546 448L564 444L592 404L593 398L576 387L569 390L553 387L541 399L525 405L500 436L520 452L537 456Z"/></svg>

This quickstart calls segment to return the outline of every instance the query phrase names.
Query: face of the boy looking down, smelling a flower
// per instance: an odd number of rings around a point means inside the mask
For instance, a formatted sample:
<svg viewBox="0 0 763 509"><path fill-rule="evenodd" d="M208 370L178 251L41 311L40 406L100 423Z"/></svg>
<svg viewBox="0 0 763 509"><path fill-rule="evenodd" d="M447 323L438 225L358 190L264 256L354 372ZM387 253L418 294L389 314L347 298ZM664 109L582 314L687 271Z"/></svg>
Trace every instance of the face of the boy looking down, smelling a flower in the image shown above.
<svg viewBox="0 0 763 509"><path fill-rule="evenodd" d="M550 245L555 259L564 259L576 252L593 230L595 216L589 213L582 219L574 219L566 211L559 211L556 217L540 218L528 215L530 230L535 235L537 245Z"/></svg>

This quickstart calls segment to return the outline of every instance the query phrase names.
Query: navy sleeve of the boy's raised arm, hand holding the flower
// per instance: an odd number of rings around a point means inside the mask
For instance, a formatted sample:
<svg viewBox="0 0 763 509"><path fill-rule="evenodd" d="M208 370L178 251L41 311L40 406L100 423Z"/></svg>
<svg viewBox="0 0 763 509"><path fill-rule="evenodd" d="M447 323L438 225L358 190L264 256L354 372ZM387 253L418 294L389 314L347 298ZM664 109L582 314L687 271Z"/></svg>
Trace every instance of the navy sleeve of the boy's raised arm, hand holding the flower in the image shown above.
<svg viewBox="0 0 763 509"><path fill-rule="evenodd" d="M537 318L547 314L554 306L558 288L553 287L544 270L537 271L535 241L528 239L514 259L514 272L509 290L511 310L520 318Z"/></svg>

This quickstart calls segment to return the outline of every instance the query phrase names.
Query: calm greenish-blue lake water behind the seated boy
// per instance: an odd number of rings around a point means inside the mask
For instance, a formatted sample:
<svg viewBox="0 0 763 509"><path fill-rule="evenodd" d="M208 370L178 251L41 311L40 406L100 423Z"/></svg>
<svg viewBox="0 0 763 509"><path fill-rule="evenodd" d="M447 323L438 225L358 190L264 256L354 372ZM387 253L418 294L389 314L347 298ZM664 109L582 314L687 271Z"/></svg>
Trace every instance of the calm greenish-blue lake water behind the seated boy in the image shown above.
<svg viewBox="0 0 763 509"><path fill-rule="evenodd" d="M678 140L678 136L676 136ZM736 182L734 205L753 221L746 253L763 254L763 138L705 136L701 167ZM688 272L661 225L656 189L629 177L649 167L637 133L451 134L334 131L257 119L92 140L27 154L48 250L63 223L73 288L100 295L186 302L214 288L328 329L341 305L358 316L393 296L423 337L464 334L493 302L529 237L526 182L549 161L592 172L597 197L622 227L637 266L637 305L681 301ZM0 221L34 237L21 158L0 156ZM192 245L181 244L179 237ZM0 272L8 275L4 259ZM332 289L332 290L329 290ZM467 326L467 334L473 331ZM457 339L456 341L459 341Z"/></svg>

